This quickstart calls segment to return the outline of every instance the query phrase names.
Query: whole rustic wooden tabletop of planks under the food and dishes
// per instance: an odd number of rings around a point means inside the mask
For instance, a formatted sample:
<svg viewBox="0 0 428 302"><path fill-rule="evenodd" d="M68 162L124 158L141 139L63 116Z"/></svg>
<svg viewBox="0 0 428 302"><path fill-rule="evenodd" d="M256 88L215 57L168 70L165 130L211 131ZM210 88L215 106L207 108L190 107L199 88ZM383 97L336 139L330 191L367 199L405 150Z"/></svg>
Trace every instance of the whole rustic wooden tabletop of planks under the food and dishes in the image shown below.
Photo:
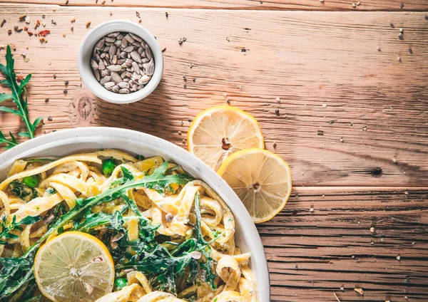
<svg viewBox="0 0 428 302"><path fill-rule="evenodd" d="M428 0L358 4L0 0L0 43L16 47L18 73L33 75L38 135L102 125L185 147L200 110L229 98L254 115L294 179L287 207L258 226L272 301L427 301ZM82 85L77 50L93 26L138 22L136 11L166 48L163 79L145 101L113 105ZM48 43L14 31L23 14L31 29L46 22ZM0 114L0 128L24 129L10 113Z"/></svg>

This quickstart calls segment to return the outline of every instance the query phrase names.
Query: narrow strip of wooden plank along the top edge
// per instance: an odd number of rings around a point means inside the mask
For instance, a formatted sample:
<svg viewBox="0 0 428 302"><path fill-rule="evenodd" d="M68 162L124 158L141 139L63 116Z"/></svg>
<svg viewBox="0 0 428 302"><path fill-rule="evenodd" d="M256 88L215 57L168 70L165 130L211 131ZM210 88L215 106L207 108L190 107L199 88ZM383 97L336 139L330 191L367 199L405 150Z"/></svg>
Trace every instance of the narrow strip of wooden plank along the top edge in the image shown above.
<svg viewBox="0 0 428 302"><path fill-rule="evenodd" d="M66 0L0 0L0 3L57 4ZM357 5L360 3L360 5ZM355 7L353 6L355 4ZM414 11L427 10L427 0L68 0L67 6L152 7L175 9L252 9L310 11Z"/></svg>

